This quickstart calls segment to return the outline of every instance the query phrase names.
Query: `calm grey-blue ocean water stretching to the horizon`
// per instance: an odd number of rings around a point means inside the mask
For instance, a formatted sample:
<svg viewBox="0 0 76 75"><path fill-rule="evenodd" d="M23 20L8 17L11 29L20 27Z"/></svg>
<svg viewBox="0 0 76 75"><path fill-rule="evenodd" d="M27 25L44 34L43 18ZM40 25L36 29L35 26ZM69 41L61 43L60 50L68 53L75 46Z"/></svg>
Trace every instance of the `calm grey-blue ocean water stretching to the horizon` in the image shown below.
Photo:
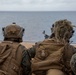
<svg viewBox="0 0 76 75"><path fill-rule="evenodd" d="M76 25L76 11L43 11L43 12L24 12L24 11L0 11L0 40L3 40L2 27L16 22L25 28L23 41L38 42L44 40L42 32L51 35L52 24L61 19L67 19ZM71 38L76 43L76 28Z"/></svg>

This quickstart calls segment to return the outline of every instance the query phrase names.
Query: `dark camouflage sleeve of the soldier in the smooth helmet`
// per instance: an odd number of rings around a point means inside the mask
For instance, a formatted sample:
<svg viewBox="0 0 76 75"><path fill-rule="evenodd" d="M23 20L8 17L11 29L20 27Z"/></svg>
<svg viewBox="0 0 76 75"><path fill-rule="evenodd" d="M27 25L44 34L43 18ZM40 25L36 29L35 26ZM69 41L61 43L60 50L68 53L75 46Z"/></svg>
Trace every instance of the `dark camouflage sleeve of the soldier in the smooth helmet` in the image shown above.
<svg viewBox="0 0 76 75"><path fill-rule="evenodd" d="M23 75L30 75L31 74L31 62L30 56L28 51L25 47L23 47L23 58L22 58L22 68L23 68Z"/></svg>

